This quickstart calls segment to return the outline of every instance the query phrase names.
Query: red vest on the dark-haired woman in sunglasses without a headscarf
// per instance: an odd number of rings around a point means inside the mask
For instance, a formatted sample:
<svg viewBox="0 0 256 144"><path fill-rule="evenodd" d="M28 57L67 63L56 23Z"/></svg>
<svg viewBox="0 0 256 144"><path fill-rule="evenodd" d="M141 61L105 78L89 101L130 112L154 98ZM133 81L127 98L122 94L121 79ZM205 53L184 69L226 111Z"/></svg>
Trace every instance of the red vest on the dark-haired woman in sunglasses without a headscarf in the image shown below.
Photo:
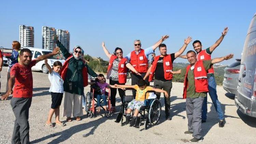
<svg viewBox="0 0 256 144"><path fill-rule="evenodd" d="M107 72L107 78L109 78L111 74L111 69L113 66L113 61L117 59L118 57L115 55L112 55L109 60L109 67L108 67L108 72ZM120 84L125 84L126 83L126 77L127 77L127 68L125 65L125 62L127 61L126 58L122 58L118 64L118 82Z"/></svg>

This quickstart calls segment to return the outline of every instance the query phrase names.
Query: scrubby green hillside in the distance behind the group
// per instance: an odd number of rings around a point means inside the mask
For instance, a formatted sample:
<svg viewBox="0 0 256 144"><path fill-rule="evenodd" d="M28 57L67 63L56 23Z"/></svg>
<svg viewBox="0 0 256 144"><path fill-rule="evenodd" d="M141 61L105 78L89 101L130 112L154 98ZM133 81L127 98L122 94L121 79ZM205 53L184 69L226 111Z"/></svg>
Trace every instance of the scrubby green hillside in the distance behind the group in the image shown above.
<svg viewBox="0 0 256 144"><path fill-rule="evenodd" d="M88 65L90 68L92 68L95 72L100 72L100 73L106 73L108 66L109 66L109 61L103 60L102 58L98 57L91 57L90 55L85 55L84 56L85 60L88 62ZM185 68L188 65L188 63L183 63L183 62L174 62L173 63L173 71ZM215 67L215 66L214 66ZM223 66L221 64L216 65L214 68L215 71L215 80L217 85L222 85L223 81L223 76L224 76L224 69L226 66ZM128 75L129 77L129 75ZM173 76L173 82L184 82L184 77L180 75L174 75Z"/></svg>

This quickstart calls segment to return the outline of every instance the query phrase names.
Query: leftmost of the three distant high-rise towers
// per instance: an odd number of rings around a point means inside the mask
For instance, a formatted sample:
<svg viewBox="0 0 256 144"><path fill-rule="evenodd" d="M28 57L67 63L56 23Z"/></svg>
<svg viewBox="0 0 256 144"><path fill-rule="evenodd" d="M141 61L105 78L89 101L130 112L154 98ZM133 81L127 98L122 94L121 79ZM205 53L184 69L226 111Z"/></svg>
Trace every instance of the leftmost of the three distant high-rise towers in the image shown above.
<svg viewBox="0 0 256 144"><path fill-rule="evenodd" d="M22 47L34 47L34 27L19 25L19 43Z"/></svg>

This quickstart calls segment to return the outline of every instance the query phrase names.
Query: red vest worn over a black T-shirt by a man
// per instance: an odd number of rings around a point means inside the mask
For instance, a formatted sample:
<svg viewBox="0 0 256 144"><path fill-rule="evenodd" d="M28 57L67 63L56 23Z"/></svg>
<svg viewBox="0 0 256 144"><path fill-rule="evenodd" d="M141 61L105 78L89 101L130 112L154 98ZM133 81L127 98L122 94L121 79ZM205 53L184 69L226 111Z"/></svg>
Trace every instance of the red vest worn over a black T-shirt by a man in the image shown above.
<svg viewBox="0 0 256 144"><path fill-rule="evenodd" d="M151 72L150 72L150 76L148 81L151 82L153 80L153 77L155 75L155 70L156 70L156 66L157 66L157 61L159 60L160 56L156 56L154 58L154 61L152 63L152 68L151 68ZM172 79L172 58L171 55L165 55L163 57L163 72L165 74L165 79L166 80L171 80Z"/></svg>

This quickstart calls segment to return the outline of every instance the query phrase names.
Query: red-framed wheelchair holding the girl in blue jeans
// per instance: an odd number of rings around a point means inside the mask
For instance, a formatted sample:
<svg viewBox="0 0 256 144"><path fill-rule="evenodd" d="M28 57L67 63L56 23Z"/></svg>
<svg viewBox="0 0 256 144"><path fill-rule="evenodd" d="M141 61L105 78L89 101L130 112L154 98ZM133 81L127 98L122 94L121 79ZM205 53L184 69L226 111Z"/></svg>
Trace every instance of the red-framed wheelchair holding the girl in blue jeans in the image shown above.
<svg viewBox="0 0 256 144"><path fill-rule="evenodd" d="M106 100L107 100L106 112L108 113L106 116L110 116L112 114L111 102L110 102L110 88L106 88L105 96L106 96ZM100 103L102 103L102 102L103 102L103 100L101 99ZM97 105L97 97L95 95L94 88L90 88L90 91L88 91L86 93L85 103L86 103L85 111L87 112L87 116L90 118L96 117L96 108L98 107L98 105ZM104 110L103 106L100 105L100 107Z"/></svg>

